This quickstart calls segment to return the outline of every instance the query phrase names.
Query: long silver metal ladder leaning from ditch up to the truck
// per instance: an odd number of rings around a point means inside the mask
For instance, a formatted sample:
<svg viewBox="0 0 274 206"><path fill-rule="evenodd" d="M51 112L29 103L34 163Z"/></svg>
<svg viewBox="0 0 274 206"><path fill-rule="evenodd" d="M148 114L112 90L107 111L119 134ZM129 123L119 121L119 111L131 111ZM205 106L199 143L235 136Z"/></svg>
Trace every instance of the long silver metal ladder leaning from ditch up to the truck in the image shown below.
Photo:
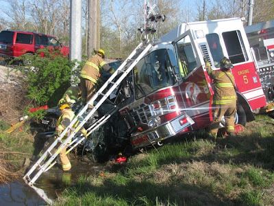
<svg viewBox="0 0 274 206"><path fill-rule="evenodd" d="M45 171L47 171L49 168L52 167L52 162L54 159L58 156L60 151L73 139L75 134L78 132L79 128L82 128L84 124L90 119L90 117L97 111L99 106L105 102L105 100L108 98L108 96L116 89L116 87L119 86L119 84L123 81L123 79L127 76L127 74L132 71L134 66L137 64L137 62L147 54L149 49L152 47L151 43L140 43L136 49L128 56L128 58L123 62L123 64L110 76L110 78L103 84L103 86L95 93L95 95L88 101L86 106L82 108L82 110L76 115L76 117L73 119L71 124L61 133L60 137L56 138L55 141L53 141L53 144L49 146L46 152L36 161L36 163L32 166L32 168L23 176L23 180L27 185L34 187L35 181L38 179L38 177ZM146 47L145 47L146 46ZM114 80L116 76L118 76L120 73L122 73L121 76L117 80ZM110 85L109 89L107 87ZM103 93L107 89L106 93ZM95 102L95 100L99 99L99 102L91 109L91 111L88 111L88 106L92 105L92 102ZM115 110L111 110L110 113L107 115L104 115L101 119L99 119L95 124L90 126L88 128L89 134L98 128L101 124L103 124L107 119L114 113ZM73 125L76 121L78 121L78 117L82 116L85 112L88 112L86 117L82 120L82 122L79 123L79 126L77 128L73 128ZM71 134L69 137L66 137L66 140L62 141L62 138L68 131L71 131ZM60 143L60 146L57 148L57 150L54 151L55 146ZM69 152L69 151L68 151ZM49 158L47 159L47 157ZM44 163L45 161L45 163ZM34 173L34 174L32 174ZM39 193L38 193L39 194ZM43 198L43 196L42 196ZM45 199L45 197L44 197Z"/></svg>

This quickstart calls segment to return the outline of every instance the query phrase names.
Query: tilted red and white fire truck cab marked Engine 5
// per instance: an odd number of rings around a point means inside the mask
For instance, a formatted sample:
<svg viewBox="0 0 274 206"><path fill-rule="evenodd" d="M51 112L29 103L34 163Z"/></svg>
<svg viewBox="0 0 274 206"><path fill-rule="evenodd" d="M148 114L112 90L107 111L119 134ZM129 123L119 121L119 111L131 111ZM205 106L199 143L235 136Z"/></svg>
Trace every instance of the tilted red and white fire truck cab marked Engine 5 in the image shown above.
<svg viewBox="0 0 274 206"><path fill-rule="evenodd" d="M155 41L128 76L132 97L119 114L134 148L210 125L214 88L204 58L218 70L223 56L234 65L235 123L245 126L254 120L253 112L266 106L266 96L242 19L182 23Z"/></svg>

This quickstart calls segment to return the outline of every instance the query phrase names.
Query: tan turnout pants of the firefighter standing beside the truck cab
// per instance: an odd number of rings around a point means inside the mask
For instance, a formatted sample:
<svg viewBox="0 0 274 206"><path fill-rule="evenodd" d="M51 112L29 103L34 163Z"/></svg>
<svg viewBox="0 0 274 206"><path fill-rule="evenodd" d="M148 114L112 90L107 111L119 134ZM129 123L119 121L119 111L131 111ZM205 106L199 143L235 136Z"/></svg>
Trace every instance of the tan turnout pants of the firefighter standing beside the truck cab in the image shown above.
<svg viewBox="0 0 274 206"><path fill-rule="evenodd" d="M212 110L213 122L210 125L209 137L216 138L221 118L225 117L227 133L234 133L234 115L236 114L236 101L227 104L216 104Z"/></svg>

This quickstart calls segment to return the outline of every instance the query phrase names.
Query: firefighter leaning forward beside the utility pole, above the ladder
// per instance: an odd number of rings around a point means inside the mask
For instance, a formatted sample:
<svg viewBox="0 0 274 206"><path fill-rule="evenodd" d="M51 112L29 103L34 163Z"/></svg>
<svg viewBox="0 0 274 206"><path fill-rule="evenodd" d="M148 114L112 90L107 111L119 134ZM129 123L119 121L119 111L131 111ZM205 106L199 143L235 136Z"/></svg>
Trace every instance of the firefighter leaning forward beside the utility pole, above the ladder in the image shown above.
<svg viewBox="0 0 274 206"><path fill-rule="evenodd" d="M84 65L80 74L80 87L82 90L82 101L88 102L93 95L95 95L97 81L99 79L100 73L103 71L114 73L114 69L110 67L107 62L103 59L105 58L105 52L103 49L99 49L95 56L92 56ZM92 104L89 108L92 108Z"/></svg>

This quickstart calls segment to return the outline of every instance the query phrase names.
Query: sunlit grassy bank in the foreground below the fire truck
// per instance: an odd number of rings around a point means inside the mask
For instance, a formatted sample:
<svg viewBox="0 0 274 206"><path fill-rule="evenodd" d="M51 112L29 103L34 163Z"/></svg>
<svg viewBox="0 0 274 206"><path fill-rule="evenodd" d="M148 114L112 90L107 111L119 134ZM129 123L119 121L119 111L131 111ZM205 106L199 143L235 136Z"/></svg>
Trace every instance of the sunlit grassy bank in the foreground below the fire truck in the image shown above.
<svg viewBox="0 0 274 206"><path fill-rule="evenodd" d="M183 141L79 176L55 205L274 205L274 126L258 116L236 138Z"/></svg>

